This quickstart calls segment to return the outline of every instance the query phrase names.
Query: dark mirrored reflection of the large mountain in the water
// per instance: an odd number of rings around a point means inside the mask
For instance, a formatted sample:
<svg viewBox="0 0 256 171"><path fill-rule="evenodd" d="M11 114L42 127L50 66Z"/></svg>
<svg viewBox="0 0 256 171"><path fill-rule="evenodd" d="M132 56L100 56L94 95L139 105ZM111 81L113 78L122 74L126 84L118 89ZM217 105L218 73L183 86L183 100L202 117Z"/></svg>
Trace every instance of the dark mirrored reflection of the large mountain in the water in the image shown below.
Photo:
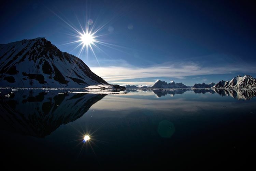
<svg viewBox="0 0 256 171"><path fill-rule="evenodd" d="M106 94L68 93L63 90L1 89L0 127L45 137L60 125L79 119L104 96Z"/></svg>

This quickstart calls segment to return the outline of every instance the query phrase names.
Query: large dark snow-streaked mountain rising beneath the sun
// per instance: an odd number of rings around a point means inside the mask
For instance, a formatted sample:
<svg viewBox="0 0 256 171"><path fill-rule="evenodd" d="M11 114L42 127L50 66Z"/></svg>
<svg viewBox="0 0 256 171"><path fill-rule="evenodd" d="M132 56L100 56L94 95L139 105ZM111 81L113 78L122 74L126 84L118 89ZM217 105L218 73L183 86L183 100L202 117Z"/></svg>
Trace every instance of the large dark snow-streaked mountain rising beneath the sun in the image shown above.
<svg viewBox="0 0 256 171"><path fill-rule="evenodd" d="M0 87L123 88L41 37L0 45Z"/></svg>

